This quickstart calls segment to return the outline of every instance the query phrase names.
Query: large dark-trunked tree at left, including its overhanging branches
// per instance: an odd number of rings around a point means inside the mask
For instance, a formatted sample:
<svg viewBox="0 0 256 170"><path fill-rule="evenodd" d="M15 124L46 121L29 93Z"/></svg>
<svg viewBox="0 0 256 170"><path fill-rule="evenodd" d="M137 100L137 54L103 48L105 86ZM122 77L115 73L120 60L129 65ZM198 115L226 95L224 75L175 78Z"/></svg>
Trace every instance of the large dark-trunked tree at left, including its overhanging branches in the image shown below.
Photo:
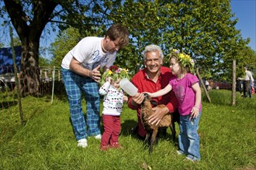
<svg viewBox="0 0 256 170"><path fill-rule="evenodd" d="M81 26L80 29L85 31L90 30L92 28L88 25L88 21L92 18L90 15L87 17L85 13L88 8L96 5L92 2L101 1L4 0L4 2L4 8L22 42L22 70L19 73L21 90L34 94L38 92L40 84L38 67L40 37L47 23L55 23L61 29L73 25Z"/></svg>

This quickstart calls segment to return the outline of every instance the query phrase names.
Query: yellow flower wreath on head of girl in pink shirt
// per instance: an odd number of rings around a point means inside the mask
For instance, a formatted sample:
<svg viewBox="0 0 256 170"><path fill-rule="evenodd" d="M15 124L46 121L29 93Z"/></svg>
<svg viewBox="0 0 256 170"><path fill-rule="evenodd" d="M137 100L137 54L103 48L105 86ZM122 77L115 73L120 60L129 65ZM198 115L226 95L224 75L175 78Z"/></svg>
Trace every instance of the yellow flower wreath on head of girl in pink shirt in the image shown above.
<svg viewBox="0 0 256 170"><path fill-rule="evenodd" d="M174 56L177 59L177 62L182 66L182 68L185 68L190 73L195 72L194 59L192 59L189 55L185 53L180 53L178 49L171 49L171 53L169 54L169 59L171 59Z"/></svg>

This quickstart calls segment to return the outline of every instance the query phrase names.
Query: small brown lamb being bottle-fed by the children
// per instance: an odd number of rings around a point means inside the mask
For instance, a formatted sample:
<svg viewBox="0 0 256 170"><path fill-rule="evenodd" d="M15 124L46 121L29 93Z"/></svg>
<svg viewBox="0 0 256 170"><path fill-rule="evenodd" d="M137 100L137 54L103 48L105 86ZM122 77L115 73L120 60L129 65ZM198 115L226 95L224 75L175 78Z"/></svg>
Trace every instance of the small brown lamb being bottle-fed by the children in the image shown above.
<svg viewBox="0 0 256 170"><path fill-rule="evenodd" d="M172 140L175 141L175 122L173 121L172 114L166 114L162 120L160 121L159 124L151 124L148 122L148 117L150 115L154 114L154 111L152 110L152 105L150 102L150 97L147 93L144 93L144 101L141 104L141 114L140 114L140 119L142 124L144 125L144 128L147 131L146 138L144 140L144 145L149 143L150 140L150 148L149 148L149 153L152 153L153 151L153 145L156 141L157 137L157 132L158 128L171 128L171 133L172 133ZM163 108L165 107L164 104L157 105L156 107Z"/></svg>

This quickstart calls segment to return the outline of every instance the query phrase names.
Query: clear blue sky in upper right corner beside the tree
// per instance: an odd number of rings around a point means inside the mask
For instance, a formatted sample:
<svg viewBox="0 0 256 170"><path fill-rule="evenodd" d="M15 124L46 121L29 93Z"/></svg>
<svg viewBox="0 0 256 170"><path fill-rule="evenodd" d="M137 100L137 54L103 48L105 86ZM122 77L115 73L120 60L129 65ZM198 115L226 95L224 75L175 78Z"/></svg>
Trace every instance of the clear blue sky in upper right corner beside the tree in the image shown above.
<svg viewBox="0 0 256 170"><path fill-rule="evenodd" d="M231 0L231 10L238 19L236 28L240 29L244 39L251 39L248 46L256 51L256 0Z"/></svg>

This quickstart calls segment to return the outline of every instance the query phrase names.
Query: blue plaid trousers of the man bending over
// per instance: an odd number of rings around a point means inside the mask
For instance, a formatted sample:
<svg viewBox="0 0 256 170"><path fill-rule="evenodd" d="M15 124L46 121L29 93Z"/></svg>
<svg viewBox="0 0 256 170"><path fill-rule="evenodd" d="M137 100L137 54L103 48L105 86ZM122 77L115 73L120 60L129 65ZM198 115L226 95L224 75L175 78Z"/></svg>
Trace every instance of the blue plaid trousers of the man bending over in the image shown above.
<svg viewBox="0 0 256 170"><path fill-rule="evenodd" d="M67 92L75 138L78 141L87 136L100 134L99 84L71 70L61 68L61 73ZM86 122L81 106L81 92L86 100Z"/></svg>

